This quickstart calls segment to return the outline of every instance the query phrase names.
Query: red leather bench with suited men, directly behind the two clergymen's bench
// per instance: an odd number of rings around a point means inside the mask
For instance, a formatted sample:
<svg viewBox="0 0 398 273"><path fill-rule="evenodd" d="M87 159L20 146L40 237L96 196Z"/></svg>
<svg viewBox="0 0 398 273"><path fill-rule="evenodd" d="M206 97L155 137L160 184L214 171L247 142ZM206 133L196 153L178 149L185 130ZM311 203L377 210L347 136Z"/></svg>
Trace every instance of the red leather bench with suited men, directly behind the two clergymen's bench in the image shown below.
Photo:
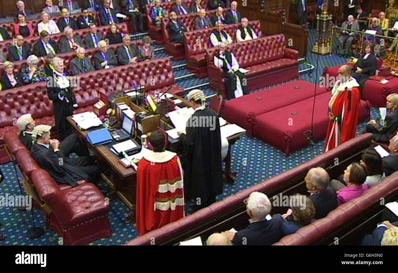
<svg viewBox="0 0 398 273"><path fill-rule="evenodd" d="M230 9L224 9L224 10L228 11ZM210 10L206 12L206 15L210 17L211 14L215 13L216 10ZM196 14L179 15L177 16L177 19L181 20L181 22L184 23L185 27L187 28L187 31L193 31L195 30L196 17L199 17L199 14L196 13ZM164 51L167 54L173 55L173 60L175 61L182 60L185 58L184 45L170 42L172 35L169 33L168 29L169 21L170 19L168 17L162 19Z"/></svg>

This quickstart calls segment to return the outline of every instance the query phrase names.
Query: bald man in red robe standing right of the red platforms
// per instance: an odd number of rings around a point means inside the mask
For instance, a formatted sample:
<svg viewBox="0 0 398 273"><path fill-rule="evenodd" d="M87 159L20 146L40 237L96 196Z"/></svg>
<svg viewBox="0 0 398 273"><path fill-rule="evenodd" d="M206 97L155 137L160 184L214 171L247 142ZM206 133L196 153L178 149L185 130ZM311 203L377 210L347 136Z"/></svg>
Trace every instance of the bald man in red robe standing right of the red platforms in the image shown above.
<svg viewBox="0 0 398 273"><path fill-rule="evenodd" d="M325 152L355 137L359 120L361 99L359 84L351 77L351 68L339 68L339 80L332 88L329 101L329 124L326 133Z"/></svg>

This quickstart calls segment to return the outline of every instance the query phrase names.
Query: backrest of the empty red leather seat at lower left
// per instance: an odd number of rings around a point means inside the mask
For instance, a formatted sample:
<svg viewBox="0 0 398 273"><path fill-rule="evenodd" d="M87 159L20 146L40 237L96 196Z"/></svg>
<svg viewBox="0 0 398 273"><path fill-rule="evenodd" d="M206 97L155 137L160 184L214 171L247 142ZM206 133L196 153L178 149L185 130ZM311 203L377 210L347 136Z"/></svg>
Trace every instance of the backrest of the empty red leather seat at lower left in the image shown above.
<svg viewBox="0 0 398 273"><path fill-rule="evenodd" d="M66 199L64 199L59 185L43 169L34 170L31 173L31 178L37 193L50 205L61 223L68 223L72 218L73 212Z"/></svg>

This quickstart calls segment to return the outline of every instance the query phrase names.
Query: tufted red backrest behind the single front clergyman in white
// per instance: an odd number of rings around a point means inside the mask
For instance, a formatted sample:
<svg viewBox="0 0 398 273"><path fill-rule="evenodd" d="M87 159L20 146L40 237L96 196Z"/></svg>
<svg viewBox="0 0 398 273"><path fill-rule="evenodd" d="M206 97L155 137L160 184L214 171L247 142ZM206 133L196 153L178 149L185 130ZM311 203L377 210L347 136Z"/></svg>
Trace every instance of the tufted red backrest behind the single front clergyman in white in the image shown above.
<svg viewBox="0 0 398 273"><path fill-rule="evenodd" d="M235 55L240 67L253 66L284 58L285 48L285 35L283 34L270 35L228 45L228 50ZM218 48L215 47L206 50L208 65L214 63L214 55L217 50Z"/></svg>

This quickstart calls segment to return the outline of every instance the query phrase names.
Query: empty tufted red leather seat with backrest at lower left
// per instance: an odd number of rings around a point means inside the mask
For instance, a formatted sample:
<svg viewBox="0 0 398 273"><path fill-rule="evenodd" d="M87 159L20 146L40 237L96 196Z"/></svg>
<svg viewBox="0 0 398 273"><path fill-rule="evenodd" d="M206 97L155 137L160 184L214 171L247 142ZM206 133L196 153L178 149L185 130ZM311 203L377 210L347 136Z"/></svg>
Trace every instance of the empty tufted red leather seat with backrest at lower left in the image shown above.
<svg viewBox="0 0 398 273"><path fill-rule="evenodd" d="M83 245L111 236L109 205L98 188L84 183L61 191L43 169L31 173L39 196L51 207L50 227L64 245Z"/></svg>

